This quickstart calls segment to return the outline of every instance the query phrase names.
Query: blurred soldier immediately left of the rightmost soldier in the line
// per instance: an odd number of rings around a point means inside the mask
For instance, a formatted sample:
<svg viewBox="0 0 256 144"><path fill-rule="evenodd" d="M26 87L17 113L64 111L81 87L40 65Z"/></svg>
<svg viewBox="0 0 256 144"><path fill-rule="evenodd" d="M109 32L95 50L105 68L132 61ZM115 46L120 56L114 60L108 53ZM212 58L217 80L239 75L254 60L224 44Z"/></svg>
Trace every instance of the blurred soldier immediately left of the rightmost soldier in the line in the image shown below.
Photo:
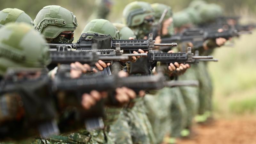
<svg viewBox="0 0 256 144"><path fill-rule="evenodd" d="M190 16L186 11L177 12L174 14L173 21L175 26L175 32L179 33L183 31L185 28L192 27L192 20L196 22L198 17L194 14L193 11L189 11L192 16ZM191 19L190 19L191 18ZM191 42L184 42L178 45L178 49L181 52L187 52L187 47L193 47ZM196 78L196 64L191 64L191 68L186 71L184 75L179 76L179 80L197 80ZM190 87L190 86L182 86L180 87L180 91L183 95L183 100L187 109L187 119L186 123L183 127L183 130L180 132L180 136L187 137L190 135L190 129L192 126L193 118L198 110L198 87Z"/></svg>

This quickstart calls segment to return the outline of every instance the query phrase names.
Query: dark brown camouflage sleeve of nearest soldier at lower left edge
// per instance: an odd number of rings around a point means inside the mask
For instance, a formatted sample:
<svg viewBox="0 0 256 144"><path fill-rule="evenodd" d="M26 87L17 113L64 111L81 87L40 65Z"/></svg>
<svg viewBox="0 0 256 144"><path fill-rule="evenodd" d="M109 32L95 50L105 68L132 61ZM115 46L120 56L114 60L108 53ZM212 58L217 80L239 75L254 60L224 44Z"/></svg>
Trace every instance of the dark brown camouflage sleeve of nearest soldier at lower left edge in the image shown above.
<svg viewBox="0 0 256 144"><path fill-rule="evenodd" d="M5 93L0 96L0 123L19 119L24 112L18 93Z"/></svg>

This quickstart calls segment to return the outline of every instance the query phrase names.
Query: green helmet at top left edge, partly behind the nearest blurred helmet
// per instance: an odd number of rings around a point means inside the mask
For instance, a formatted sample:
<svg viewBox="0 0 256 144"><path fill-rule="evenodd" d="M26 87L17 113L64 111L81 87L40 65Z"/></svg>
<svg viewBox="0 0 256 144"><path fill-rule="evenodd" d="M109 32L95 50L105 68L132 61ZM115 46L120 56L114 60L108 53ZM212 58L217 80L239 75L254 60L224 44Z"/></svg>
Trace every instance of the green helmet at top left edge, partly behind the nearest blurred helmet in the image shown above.
<svg viewBox="0 0 256 144"><path fill-rule="evenodd" d="M19 9L6 8L0 11L0 24L5 25L9 22L25 22L33 24L33 20L24 11Z"/></svg>

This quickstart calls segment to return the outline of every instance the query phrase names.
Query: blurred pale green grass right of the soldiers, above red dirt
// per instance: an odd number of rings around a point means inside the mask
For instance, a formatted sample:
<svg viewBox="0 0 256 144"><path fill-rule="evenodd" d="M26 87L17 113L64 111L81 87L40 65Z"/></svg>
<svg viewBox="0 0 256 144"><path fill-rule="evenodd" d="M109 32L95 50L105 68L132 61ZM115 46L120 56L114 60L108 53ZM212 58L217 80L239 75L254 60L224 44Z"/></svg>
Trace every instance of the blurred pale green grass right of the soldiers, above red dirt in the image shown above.
<svg viewBox="0 0 256 144"><path fill-rule="evenodd" d="M235 39L234 47L216 49L217 63L209 63L218 116L256 113L256 30Z"/></svg>

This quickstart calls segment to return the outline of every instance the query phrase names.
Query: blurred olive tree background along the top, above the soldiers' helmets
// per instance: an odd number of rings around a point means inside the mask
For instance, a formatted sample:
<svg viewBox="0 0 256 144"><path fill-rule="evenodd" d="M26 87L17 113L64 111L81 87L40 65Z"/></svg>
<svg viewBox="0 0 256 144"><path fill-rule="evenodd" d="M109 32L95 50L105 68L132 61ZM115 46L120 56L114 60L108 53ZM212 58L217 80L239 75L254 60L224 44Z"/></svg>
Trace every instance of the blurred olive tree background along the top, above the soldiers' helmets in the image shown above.
<svg viewBox="0 0 256 144"><path fill-rule="evenodd" d="M90 15L97 11L97 0L0 0L0 10L4 8L18 8L26 12L32 19L46 5L60 5L76 15L79 26L75 39L80 35ZM99 0L98 0L99 1ZM135 0L111 0L112 8L108 16L111 22L122 22L122 12L124 7ZM174 12L186 8L191 0L142 0L149 3L162 3L170 5ZM226 15L255 15L255 0L205 0L208 3L220 4ZM79 34L78 34L79 33Z"/></svg>

